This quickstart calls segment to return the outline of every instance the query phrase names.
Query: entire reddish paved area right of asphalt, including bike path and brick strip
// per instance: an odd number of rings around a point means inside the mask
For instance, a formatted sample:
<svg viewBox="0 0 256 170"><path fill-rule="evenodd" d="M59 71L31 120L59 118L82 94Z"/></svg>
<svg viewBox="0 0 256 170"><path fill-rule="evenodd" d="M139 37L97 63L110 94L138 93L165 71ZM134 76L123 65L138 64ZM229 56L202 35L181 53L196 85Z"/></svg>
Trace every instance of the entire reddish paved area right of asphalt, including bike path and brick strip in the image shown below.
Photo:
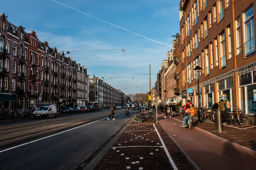
<svg viewBox="0 0 256 170"><path fill-rule="evenodd" d="M256 127L215 124L180 127L183 116L164 119L158 124L131 123L121 132L94 169L254 169L256 166ZM85 167L87 169L89 167Z"/></svg>

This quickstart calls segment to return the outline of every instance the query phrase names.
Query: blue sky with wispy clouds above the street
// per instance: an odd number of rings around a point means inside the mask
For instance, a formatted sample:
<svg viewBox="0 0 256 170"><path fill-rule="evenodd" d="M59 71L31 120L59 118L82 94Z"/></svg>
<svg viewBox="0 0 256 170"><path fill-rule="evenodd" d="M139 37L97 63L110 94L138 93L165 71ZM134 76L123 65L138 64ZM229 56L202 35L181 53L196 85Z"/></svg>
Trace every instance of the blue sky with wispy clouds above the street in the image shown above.
<svg viewBox="0 0 256 170"><path fill-rule="evenodd" d="M36 31L51 47L70 51L66 56L88 68L88 74L104 77L125 94L135 94L149 91L149 64L154 87L172 35L180 29L179 2L14 0L1 2L0 13L25 31Z"/></svg>

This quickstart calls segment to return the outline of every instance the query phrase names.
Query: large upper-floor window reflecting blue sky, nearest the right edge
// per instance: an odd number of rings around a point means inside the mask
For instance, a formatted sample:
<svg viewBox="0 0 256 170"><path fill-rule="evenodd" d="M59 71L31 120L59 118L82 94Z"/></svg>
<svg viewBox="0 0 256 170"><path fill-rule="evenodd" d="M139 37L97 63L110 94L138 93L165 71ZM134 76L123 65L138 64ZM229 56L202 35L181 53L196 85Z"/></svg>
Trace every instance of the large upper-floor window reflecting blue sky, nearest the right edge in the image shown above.
<svg viewBox="0 0 256 170"><path fill-rule="evenodd" d="M244 13L245 25L245 56L255 53L255 38L254 38L254 16L253 6L247 9Z"/></svg>

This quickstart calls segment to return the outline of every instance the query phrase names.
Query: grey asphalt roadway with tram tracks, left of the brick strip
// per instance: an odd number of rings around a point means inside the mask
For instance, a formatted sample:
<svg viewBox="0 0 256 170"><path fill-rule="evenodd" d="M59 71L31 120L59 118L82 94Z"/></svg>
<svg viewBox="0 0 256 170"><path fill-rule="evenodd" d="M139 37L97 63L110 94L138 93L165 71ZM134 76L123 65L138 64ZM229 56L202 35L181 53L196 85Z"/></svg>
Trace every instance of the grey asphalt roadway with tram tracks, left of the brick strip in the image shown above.
<svg viewBox="0 0 256 170"><path fill-rule="evenodd" d="M116 120L107 120L108 111L102 111L61 116L56 119L23 120L23 123L22 120L1 122L1 130L5 128L5 131L1 132L2 139L8 139L8 134L11 134L16 141L25 143L0 150L0 169L75 169L131 117L131 114L125 115L124 109L115 113ZM67 124L73 126L63 128ZM58 127L61 128L56 130ZM49 133L47 129L51 128L54 131ZM16 133L13 130L16 130ZM37 134L38 131L41 135ZM44 131L48 134L43 134ZM37 132L37 136L34 136L37 139L26 141L25 137L29 137L33 132ZM15 138L21 136L19 134L24 136L23 140Z"/></svg>

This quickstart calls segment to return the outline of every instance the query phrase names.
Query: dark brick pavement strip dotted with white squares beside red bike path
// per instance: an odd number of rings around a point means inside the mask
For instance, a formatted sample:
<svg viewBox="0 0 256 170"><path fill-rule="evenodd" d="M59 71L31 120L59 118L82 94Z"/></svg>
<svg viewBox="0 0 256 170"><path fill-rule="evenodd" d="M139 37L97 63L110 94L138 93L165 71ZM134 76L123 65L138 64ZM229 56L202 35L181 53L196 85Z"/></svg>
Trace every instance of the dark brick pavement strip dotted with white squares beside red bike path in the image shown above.
<svg viewBox="0 0 256 170"><path fill-rule="evenodd" d="M94 169L145 170L195 167L159 124L132 123Z"/></svg>

